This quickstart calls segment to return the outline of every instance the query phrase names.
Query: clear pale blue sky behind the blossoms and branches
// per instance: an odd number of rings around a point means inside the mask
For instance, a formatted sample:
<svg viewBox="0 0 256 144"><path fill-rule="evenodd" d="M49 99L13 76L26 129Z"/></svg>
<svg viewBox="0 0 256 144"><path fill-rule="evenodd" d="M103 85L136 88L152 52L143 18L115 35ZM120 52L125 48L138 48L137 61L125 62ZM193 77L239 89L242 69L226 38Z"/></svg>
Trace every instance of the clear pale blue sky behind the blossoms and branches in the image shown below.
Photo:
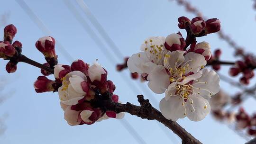
<svg viewBox="0 0 256 144"><path fill-rule="evenodd" d="M116 94L123 102L138 104L137 94L144 94L148 98L148 93L153 95L159 102L163 95L152 93L146 84L139 81L132 81L128 71L115 71L115 65L119 58L114 55L114 50L103 44L111 55L102 51L91 39L80 23L74 18L71 11L64 4L63 0L25 0L27 5L35 12L38 18L53 33L53 37L72 55L74 59L82 59L87 63L92 63L99 59L99 63L108 70L108 79L114 81L117 89ZM141 43L149 36L167 36L171 33L181 31L185 36L185 31L177 27L177 18L194 16L177 5L176 2L168 0L84 0L93 15L101 23L102 27L109 34L111 39L119 47L123 55L131 55L139 51ZM208 18L219 18L221 27L226 34L229 34L238 45L246 47L247 51L254 52L256 47L256 11L252 9L252 0L189 0L200 9ZM90 23L75 0L71 3L79 11L85 20ZM8 23L14 24L18 28L15 40L23 44L23 54L33 60L45 63L44 57L35 47L38 38L45 36L37 25L27 16L15 0L2 1L0 14L10 12ZM241 6L242 5L242 6ZM92 26L90 24L90 26ZM1 27L3 30L3 27ZM96 29L93 28L98 36ZM3 35L3 34L2 34ZM1 36L2 36L1 35ZM101 37L103 41L103 38ZM233 49L224 41L219 40L217 34L198 38L198 41L207 41L212 47L222 48L223 60L235 60ZM58 47L59 63L70 64ZM116 63L109 61L113 58ZM137 141L128 133L124 126L116 119L109 119L91 126L69 126L64 120L64 112L59 106L57 93L37 94L33 88L33 82L37 76L41 75L38 68L25 63L18 64L16 73L7 74L5 64L0 61L0 75L6 77L11 83L3 92L15 93L0 105L0 116L8 113L5 119L8 126L7 131L0 137L1 144L136 144ZM228 66L223 66L221 73L227 74ZM121 78L124 77L124 78ZM50 76L50 78L53 78ZM133 92L126 81L130 81L135 87L144 88ZM254 80L255 81L255 80ZM238 89L221 81L221 88L236 93ZM139 87L139 88L140 88ZM147 92L145 91L147 90ZM252 107L254 99L248 99L243 105L249 112L255 111ZM158 108L158 104L155 108ZM146 144L168 143L179 144L180 139L158 122L142 120L139 117L126 114L126 120L136 129L137 133L144 139ZM235 134L226 125L215 121L210 115L200 122L192 122L187 118L178 120L187 131L204 144L243 144L245 140ZM169 138L162 131L169 132ZM139 144L139 143L137 143Z"/></svg>

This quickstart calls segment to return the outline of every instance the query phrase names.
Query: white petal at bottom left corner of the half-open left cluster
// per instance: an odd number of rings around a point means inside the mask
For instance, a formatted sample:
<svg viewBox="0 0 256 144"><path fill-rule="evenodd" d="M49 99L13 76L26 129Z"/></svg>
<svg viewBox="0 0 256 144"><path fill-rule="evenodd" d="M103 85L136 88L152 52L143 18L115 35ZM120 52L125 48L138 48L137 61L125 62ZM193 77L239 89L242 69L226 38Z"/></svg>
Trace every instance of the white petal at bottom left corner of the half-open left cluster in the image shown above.
<svg viewBox="0 0 256 144"><path fill-rule="evenodd" d="M81 123L81 120L78 121L78 115L80 111L75 111L71 109L71 106L68 106L65 109L64 112L64 119L68 122L69 125L71 126L76 126Z"/></svg>

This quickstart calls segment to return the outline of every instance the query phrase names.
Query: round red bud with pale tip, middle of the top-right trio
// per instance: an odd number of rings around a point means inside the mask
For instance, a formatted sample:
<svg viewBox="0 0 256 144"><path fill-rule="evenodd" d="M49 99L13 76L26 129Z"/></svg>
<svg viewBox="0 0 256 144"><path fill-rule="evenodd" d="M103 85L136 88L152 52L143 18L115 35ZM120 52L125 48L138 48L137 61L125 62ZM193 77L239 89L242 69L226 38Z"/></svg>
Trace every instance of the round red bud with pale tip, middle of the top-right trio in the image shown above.
<svg viewBox="0 0 256 144"><path fill-rule="evenodd" d="M201 17L196 17L191 20L191 30L194 35L201 33L205 27L205 21Z"/></svg>

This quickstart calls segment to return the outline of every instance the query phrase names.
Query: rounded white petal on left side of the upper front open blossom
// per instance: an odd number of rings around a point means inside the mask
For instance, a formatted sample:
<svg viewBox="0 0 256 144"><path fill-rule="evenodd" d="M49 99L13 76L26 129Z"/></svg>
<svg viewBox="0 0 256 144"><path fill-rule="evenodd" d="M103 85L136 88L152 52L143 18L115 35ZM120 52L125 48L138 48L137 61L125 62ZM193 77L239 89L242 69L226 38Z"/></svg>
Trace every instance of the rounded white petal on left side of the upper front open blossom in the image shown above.
<svg viewBox="0 0 256 144"><path fill-rule="evenodd" d="M170 84L169 75L163 65L157 65L147 76L148 87L157 94L164 93Z"/></svg>

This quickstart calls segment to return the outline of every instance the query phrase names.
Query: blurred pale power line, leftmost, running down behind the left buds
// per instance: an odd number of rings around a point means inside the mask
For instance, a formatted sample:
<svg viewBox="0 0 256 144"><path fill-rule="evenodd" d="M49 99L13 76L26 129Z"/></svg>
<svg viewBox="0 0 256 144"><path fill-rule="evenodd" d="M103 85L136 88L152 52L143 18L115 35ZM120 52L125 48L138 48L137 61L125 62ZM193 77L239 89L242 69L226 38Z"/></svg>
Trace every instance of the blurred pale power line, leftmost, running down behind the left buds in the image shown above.
<svg viewBox="0 0 256 144"><path fill-rule="evenodd" d="M27 13L29 18L37 25L37 27L46 35L53 35L52 32L44 25L44 23L37 17L37 15L29 8L24 0L16 0L20 7ZM94 37L95 38L95 37ZM96 37L97 38L97 37ZM65 50L65 48L56 41L56 45L60 47L59 51L67 58L71 63L73 62L73 57ZM108 52L107 52L108 53ZM110 58L111 59L111 58ZM111 59L113 61L113 59ZM146 144L137 131L128 123L127 120L123 119L120 121L121 124L128 130L130 135L132 135L139 144Z"/></svg>

